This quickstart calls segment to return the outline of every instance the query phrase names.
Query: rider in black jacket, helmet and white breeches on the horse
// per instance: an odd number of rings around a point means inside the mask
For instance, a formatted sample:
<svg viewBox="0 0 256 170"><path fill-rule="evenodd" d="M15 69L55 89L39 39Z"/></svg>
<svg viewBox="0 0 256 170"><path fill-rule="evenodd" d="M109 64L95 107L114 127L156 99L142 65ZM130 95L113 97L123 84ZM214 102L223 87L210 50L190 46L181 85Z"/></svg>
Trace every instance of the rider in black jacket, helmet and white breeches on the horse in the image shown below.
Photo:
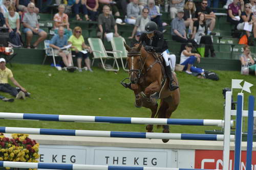
<svg viewBox="0 0 256 170"><path fill-rule="evenodd" d="M162 53L163 59L165 61L165 72L169 78L169 89L171 91L179 88L179 86L174 85L172 82L173 74L170 64L168 62L168 56L166 50L168 45L163 38L163 33L157 31L157 24L153 21L147 22L145 25L145 33L141 34L139 43L142 41L144 49L149 52Z"/></svg>

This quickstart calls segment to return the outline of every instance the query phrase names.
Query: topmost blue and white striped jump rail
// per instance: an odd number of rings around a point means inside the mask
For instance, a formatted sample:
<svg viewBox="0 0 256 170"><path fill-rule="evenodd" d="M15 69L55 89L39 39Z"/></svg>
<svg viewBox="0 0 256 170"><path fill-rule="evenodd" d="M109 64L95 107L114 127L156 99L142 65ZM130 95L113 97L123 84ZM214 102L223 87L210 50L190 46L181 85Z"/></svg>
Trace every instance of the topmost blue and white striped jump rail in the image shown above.
<svg viewBox="0 0 256 170"><path fill-rule="evenodd" d="M108 116L78 116L31 113L3 113L0 119L27 119L58 122L80 123L115 123L115 124L146 124L146 125L193 125L193 126L224 126L220 119L178 119L178 118L144 118L144 117L108 117ZM233 126L233 120L230 125Z"/></svg>

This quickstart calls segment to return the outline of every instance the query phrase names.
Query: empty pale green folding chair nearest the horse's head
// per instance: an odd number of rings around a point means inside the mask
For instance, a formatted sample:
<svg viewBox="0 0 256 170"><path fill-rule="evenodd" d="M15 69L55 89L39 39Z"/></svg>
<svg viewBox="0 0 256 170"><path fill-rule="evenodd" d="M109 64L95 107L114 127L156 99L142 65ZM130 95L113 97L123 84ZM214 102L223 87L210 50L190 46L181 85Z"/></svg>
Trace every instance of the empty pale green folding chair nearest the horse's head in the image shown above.
<svg viewBox="0 0 256 170"><path fill-rule="evenodd" d="M127 58L127 51L124 47L124 42L125 39L123 37L113 37L111 40L111 45L113 48L113 52L116 52L116 54L114 54L114 56L118 59L121 60L123 69L125 71L129 71L129 69L125 69L125 67L127 66L127 61L125 62L125 65L123 64L123 59L126 60Z"/></svg>

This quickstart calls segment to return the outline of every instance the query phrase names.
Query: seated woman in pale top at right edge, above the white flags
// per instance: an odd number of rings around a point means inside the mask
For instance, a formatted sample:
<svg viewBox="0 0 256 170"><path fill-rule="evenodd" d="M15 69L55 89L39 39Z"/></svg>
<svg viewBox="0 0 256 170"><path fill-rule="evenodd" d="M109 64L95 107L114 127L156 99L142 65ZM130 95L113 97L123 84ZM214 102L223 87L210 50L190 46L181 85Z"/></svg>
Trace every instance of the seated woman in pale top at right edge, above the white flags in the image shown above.
<svg viewBox="0 0 256 170"><path fill-rule="evenodd" d="M251 57L250 47L248 45L244 45L243 49L244 53L240 57L243 68L243 70L241 69L241 74L248 75L249 72L253 72L253 74L256 76L256 64Z"/></svg>

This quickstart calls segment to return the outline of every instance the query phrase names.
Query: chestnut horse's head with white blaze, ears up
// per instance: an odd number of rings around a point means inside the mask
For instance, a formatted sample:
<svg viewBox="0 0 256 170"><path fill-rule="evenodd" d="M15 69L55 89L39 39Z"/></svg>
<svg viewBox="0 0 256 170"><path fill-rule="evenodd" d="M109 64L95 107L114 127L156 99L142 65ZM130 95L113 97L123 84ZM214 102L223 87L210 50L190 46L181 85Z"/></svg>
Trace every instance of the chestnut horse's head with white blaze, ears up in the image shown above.
<svg viewBox="0 0 256 170"><path fill-rule="evenodd" d="M130 81L132 84L136 84L140 78L141 69L143 66L142 57L140 54L142 43L136 44L134 47L130 47L124 43L127 54L127 66L130 73Z"/></svg>

